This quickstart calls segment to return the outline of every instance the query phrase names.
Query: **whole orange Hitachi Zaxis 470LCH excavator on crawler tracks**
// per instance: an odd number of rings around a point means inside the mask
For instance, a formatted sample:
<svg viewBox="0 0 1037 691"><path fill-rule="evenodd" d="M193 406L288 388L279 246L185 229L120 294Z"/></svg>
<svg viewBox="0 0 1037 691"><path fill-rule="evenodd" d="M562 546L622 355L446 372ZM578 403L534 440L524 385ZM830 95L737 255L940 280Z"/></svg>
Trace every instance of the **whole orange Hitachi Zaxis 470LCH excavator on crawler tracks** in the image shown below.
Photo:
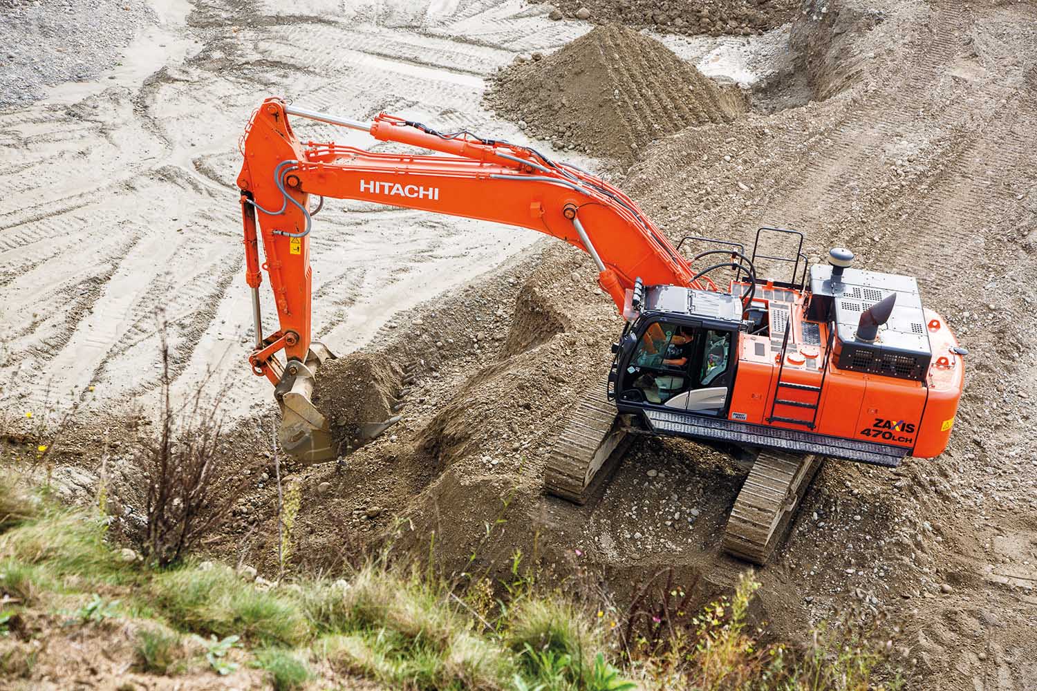
<svg viewBox="0 0 1037 691"><path fill-rule="evenodd" d="M303 141L293 118L414 151ZM914 278L854 267L846 249L811 263L803 234L781 228L759 229L751 252L701 237L675 247L629 197L577 166L385 113L361 122L267 98L241 150L249 362L274 385L281 445L305 462L340 451L312 402L316 373L333 357L311 338L309 240L328 197L529 228L589 255L623 325L607 381L567 411L544 470L550 494L587 501L635 434L693 439L752 462L723 547L763 565L824 459L896 467L948 444L965 349L923 307ZM761 239L791 249L768 251ZM709 249L688 259L685 240ZM782 276L759 276L763 263ZM263 272L280 323L265 336Z"/></svg>

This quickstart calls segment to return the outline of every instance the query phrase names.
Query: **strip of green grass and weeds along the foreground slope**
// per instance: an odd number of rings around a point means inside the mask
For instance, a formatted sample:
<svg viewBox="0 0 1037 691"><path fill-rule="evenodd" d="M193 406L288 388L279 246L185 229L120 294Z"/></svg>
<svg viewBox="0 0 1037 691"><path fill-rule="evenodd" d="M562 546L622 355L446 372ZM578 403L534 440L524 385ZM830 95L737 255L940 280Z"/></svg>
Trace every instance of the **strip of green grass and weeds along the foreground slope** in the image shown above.
<svg viewBox="0 0 1037 691"><path fill-rule="evenodd" d="M230 673L249 664L265 670L278 691L324 688L318 672L328 669L415 690L627 691L630 675L646 688L897 687L895 676L875 681L885 661L864 638L819 629L813 647L760 643L746 623L755 587L749 580L662 653L634 643L623 657L615 637L622 627L611 628L612 614L592 616L533 587L507 602L476 604L480 613L447 583L382 565L354 574L345 587L301 580L264 589L224 566L127 564L106 541L102 521L34 512L0 531L0 589L12 599L12 611L44 609L81 627L134 618L141 625L136 664L152 674L189 667ZM202 636L193 640L207 654L187 652L191 634Z"/></svg>

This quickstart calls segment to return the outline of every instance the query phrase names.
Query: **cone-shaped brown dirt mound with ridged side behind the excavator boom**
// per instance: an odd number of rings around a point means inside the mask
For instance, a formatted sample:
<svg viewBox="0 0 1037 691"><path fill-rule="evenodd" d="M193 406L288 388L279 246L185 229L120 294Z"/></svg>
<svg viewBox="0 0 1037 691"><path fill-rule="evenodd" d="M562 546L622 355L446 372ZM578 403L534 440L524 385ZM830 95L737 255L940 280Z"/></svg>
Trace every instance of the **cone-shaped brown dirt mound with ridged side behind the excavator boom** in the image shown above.
<svg viewBox="0 0 1037 691"><path fill-rule="evenodd" d="M718 86L654 38L615 25L550 56L515 62L486 98L559 148L620 161L658 137L729 122L746 109L736 87Z"/></svg>

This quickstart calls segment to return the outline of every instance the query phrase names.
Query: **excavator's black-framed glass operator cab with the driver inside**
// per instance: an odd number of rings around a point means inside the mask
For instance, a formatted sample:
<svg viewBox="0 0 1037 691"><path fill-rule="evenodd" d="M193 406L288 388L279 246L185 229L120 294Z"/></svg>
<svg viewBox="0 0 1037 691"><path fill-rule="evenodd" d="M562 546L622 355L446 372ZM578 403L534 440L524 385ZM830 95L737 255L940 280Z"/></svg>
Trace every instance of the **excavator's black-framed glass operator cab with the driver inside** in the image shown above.
<svg viewBox="0 0 1037 691"><path fill-rule="evenodd" d="M640 316L618 344L610 376L620 410L663 406L726 416L741 299L679 286L643 288L641 296Z"/></svg>

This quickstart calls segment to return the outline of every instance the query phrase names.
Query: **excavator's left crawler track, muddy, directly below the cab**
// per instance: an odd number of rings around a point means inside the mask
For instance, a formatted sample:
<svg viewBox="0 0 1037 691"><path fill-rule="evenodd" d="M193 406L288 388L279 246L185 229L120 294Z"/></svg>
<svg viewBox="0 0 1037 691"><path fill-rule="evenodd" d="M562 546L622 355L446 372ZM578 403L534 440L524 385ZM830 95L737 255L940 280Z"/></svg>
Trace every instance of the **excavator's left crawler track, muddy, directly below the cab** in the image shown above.
<svg viewBox="0 0 1037 691"><path fill-rule="evenodd" d="M572 406L568 424L548 457L544 490L587 503L615 470L632 439L605 386L588 391Z"/></svg>

